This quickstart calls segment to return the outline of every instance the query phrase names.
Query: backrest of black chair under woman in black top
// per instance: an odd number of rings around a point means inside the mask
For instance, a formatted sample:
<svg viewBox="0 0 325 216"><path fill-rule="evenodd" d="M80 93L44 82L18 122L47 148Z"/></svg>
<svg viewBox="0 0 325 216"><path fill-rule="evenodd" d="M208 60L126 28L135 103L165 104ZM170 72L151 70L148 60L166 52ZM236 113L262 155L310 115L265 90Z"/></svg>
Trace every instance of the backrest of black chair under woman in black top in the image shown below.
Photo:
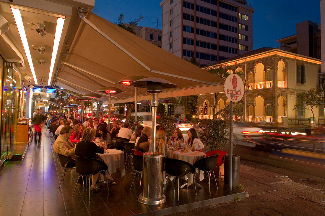
<svg viewBox="0 0 325 216"><path fill-rule="evenodd" d="M78 156L75 156L75 159L76 159L76 172L81 175L94 175L99 171L101 171L98 169L100 165L103 165L103 163L97 159L78 157Z"/></svg>

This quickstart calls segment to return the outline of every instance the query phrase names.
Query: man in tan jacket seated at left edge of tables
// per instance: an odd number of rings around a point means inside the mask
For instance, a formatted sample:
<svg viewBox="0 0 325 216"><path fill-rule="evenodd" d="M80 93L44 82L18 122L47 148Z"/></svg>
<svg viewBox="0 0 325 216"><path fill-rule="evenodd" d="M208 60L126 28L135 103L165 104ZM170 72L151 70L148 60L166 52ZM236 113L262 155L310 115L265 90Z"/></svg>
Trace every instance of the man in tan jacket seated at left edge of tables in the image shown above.
<svg viewBox="0 0 325 216"><path fill-rule="evenodd" d="M72 136L72 126L64 126L60 131L59 137L53 144L53 150L56 153L63 154L64 156L71 157L75 156L76 148L73 147L70 137Z"/></svg>

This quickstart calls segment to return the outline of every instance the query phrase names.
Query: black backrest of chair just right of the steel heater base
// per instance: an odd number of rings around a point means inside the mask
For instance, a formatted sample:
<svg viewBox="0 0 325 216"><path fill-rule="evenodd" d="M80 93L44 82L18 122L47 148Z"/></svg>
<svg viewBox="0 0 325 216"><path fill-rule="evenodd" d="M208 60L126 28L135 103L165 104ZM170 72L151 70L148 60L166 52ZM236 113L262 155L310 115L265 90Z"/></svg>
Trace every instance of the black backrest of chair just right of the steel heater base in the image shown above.
<svg viewBox="0 0 325 216"><path fill-rule="evenodd" d="M164 158L163 167L165 172L172 176L181 177L188 173L195 172L195 168L192 164L172 158Z"/></svg>

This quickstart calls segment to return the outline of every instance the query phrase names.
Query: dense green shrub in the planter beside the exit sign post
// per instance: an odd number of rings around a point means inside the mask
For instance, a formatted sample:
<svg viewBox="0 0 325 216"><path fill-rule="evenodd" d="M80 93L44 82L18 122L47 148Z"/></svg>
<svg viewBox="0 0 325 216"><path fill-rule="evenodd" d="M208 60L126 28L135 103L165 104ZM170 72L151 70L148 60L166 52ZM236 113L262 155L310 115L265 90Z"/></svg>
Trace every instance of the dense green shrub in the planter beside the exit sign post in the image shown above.
<svg viewBox="0 0 325 216"><path fill-rule="evenodd" d="M200 119L199 132L202 143L207 151L222 150L227 145L227 123L221 119Z"/></svg>

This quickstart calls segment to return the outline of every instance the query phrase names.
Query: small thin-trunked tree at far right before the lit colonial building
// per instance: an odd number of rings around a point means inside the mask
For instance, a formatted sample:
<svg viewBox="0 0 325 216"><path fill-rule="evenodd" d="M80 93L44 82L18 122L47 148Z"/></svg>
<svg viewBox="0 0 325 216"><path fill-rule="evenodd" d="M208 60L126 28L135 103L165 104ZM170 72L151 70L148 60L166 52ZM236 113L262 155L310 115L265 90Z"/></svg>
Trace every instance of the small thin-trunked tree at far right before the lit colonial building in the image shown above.
<svg viewBox="0 0 325 216"><path fill-rule="evenodd" d="M313 114L314 119L314 111L313 109L317 109L320 104L324 103L324 98L321 91L315 91L314 89L310 89L308 91L304 91L301 93L298 93L296 95L297 98L297 104L293 106L293 110L303 110L304 113L308 112L308 110L311 111ZM314 134L315 134L316 128L314 123Z"/></svg>

